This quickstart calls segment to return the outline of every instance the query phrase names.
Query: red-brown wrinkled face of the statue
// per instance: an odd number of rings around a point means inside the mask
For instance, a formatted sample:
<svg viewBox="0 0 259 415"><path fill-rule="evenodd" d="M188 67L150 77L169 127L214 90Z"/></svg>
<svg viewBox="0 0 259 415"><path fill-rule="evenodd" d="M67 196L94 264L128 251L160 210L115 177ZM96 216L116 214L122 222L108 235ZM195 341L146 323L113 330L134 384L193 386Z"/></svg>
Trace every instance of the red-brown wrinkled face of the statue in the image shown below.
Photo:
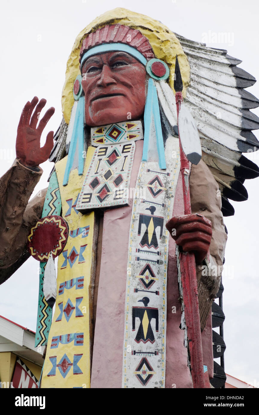
<svg viewBox="0 0 259 415"><path fill-rule="evenodd" d="M126 52L90 56L82 67L85 120L91 127L143 115L146 69Z"/></svg>

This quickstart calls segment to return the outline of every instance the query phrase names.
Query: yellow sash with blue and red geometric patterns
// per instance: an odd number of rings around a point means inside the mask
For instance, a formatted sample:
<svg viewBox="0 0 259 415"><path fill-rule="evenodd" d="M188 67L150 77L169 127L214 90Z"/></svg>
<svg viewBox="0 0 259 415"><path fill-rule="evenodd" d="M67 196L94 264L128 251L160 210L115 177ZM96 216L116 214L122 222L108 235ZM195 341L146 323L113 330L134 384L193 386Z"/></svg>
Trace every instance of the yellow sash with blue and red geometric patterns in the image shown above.
<svg viewBox="0 0 259 415"><path fill-rule="evenodd" d="M94 147L87 151L87 171ZM62 200L62 217L69 225L67 244L59 255L57 300L49 332L42 374L42 388L90 387L91 296L94 292L96 237L94 212L82 215L75 209L84 182L77 169L63 177L67 157L55 165ZM92 275L91 275L92 274Z"/></svg>

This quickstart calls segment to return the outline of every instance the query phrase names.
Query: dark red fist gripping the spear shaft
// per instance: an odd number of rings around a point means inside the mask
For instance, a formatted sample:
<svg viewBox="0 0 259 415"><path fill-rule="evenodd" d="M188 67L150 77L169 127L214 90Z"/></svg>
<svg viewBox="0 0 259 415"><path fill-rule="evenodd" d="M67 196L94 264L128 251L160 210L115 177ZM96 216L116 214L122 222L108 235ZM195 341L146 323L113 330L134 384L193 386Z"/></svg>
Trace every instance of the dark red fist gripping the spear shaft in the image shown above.
<svg viewBox="0 0 259 415"><path fill-rule="evenodd" d="M185 252L194 252L197 264L206 258L210 248L212 226L209 219L203 215L174 216L165 225L176 245Z"/></svg>

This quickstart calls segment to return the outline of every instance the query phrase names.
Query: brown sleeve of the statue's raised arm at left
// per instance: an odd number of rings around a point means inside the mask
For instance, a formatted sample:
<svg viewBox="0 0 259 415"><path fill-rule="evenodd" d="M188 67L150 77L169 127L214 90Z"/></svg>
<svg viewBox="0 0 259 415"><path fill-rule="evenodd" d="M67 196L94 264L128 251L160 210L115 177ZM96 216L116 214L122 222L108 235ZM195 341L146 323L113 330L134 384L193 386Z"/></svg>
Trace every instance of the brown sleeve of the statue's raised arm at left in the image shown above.
<svg viewBox="0 0 259 415"><path fill-rule="evenodd" d="M42 175L16 159L0 178L0 283L4 282L29 257L27 236L42 215L46 190L28 200Z"/></svg>

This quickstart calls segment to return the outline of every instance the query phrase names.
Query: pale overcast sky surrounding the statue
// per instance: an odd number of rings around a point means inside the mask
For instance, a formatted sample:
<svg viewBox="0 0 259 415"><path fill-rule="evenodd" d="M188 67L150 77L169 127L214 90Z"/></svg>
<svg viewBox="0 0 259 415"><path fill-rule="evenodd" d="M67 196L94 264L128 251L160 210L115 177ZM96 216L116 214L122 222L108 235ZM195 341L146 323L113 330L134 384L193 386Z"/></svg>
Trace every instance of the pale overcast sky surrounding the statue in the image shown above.
<svg viewBox="0 0 259 415"><path fill-rule="evenodd" d="M46 108L56 112L42 134L56 131L62 119L61 92L68 56L77 34L96 16L115 7L146 14L188 39L207 46L227 49L242 59L239 67L259 78L258 3L253 0L171 1L88 1L12 0L1 4L0 12L0 176L15 159L15 139L22 107L34 95L46 98ZM212 32L227 32L229 41L211 43ZM258 84L259 85L259 84ZM248 88L259 96L257 83ZM259 111L252 110L259 115ZM44 114L44 112L43 112ZM257 137L259 137L258 133ZM2 156L6 150L7 159ZM254 156L254 158L252 158ZM249 156L259 164L259 154ZM47 187L53 164L44 170L37 190ZM258 186L259 178L245 181L249 199L233 202L234 217L225 218L228 229L223 278L223 308L226 315L224 340L227 345L226 373L259 387L258 363ZM34 192L34 194L35 194ZM38 263L30 258L0 286L0 315L35 330L38 295Z"/></svg>

